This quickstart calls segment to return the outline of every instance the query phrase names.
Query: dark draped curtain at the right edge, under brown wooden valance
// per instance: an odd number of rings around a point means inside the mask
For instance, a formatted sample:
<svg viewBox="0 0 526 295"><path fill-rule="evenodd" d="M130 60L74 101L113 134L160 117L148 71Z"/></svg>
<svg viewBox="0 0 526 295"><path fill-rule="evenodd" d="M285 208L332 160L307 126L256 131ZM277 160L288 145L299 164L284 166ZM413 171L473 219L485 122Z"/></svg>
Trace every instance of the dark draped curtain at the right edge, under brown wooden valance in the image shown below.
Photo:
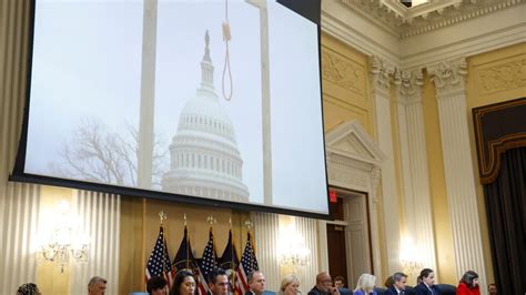
<svg viewBox="0 0 526 295"><path fill-rule="evenodd" d="M526 148L502 155L499 174L484 194L498 293L526 294Z"/></svg>

